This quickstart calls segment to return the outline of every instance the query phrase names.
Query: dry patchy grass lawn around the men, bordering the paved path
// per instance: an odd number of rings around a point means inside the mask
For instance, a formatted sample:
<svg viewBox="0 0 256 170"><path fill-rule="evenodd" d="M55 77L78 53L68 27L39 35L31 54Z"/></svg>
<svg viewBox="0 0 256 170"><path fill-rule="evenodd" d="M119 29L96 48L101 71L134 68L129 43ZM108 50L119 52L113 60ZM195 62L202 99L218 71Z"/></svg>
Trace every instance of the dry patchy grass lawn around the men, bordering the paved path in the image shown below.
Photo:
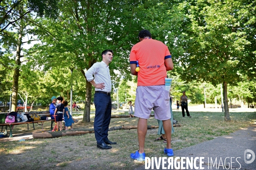
<svg viewBox="0 0 256 170"><path fill-rule="evenodd" d="M188 108L189 109L189 108ZM176 110L176 109L175 109ZM182 117L181 111L174 111L174 119L181 127L174 127L172 134L172 147L179 150L200 142L212 140L221 135L228 135L236 130L256 123L256 109L230 109L232 121L224 121L224 112L216 112L210 109L207 112L198 112L192 109L192 118ZM74 113L74 112L73 112ZM116 115L128 115L128 112L113 112ZM91 122L82 122L82 115L74 115L79 119L76 128L93 128L94 113L91 114ZM138 118L112 118L110 127L137 126ZM150 118L148 125L158 125L156 119ZM15 126L13 135L39 131L32 130L32 125ZM45 122L44 129L50 129L50 122ZM145 141L145 153L147 157L165 156L163 149L166 144L163 141L154 141L158 129L148 130ZM94 134L77 136L64 136L60 138L29 139L26 141L0 141L0 170L133 170L144 162L134 161L129 157L130 153L138 150L137 130L109 131L109 139L118 144L111 150L96 148Z"/></svg>

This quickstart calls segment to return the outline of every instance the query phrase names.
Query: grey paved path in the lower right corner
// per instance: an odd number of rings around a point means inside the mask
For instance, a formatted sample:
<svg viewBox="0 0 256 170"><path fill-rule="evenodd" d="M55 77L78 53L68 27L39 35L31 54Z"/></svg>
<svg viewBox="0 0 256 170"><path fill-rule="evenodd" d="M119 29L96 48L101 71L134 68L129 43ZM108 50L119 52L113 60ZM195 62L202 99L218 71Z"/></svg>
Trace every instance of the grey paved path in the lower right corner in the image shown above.
<svg viewBox="0 0 256 170"><path fill-rule="evenodd" d="M220 136L213 140L206 141L191 147L187 147L181 150L174 150L174 156L189 157L189 158L204 157L203 159L204 164L202 165L204 170L231 169L230 158L234 157L232 158L232 169L256 170L256 158L250 164L246 164L244 161L244 152L247 149L252 150L254 154L256 154L256 125L247 127L246 129L238 130L234 133L231 133L230 135ZM246 156L250 156L250 155L251 157L249 159L246 159L246 161L252 160L253 155L248 152L246 153ZM208 158L209 158L209 167L208 167ZM213 163L217 158L217 162L215 163L214 167L212 163L212 168L210 167L211 158L213 160ZM226 158L226 165L227 165L226 167L225 167L225 158ZM223 162L224 166L222 166L221 162ZM199 161L197 162L197 167L199 167ZM154 170L156 170L156 165L154 166L154 168L155 168ZM141 166L139 168L136 168L135 170L144 170L144 169L145 169L145 166ZM151 167L150 167L150 170L151 170ZM160 170L162 170L162 165L160 166Z"/></svg>

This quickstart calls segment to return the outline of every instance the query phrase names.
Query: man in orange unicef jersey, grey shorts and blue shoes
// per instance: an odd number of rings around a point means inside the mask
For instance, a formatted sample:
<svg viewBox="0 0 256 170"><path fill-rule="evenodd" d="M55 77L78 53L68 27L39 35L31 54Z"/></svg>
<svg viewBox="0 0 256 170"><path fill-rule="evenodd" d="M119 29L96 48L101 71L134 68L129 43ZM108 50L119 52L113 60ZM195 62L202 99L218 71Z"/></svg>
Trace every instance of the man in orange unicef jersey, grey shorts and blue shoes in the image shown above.
<svg viewBox="0 0 256 170"><path fill-rule="evenodd" d="M162 120L167 145L164 153L174 156L171 148L171 114L169 91L165 90L167 71L174 68L168 47L158 40L153 40L148 30L138 34L140 40L130 52L130 69L132 75L138 76L134 116L138 117L139 149L130 157L137 161L145 160L144 142L147 134L147 119L154 107L155 118ZM137 62L140 67L136 72Z"/></svg>

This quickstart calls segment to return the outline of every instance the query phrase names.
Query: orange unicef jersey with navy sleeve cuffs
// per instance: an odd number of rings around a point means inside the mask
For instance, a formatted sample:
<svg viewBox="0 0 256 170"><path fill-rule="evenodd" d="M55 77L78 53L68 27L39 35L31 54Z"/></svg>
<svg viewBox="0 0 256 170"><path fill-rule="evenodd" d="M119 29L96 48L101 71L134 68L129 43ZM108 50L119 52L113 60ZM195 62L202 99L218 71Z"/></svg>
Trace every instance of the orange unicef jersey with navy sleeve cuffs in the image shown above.
<svg viewBox="0 0 256 170"><path fill-rule="evenodd" d="M151 38L136 43L130 52L130 64L138 64L138 86L164 85L167 76L165 59L171 58L168 47Z"/></svg>

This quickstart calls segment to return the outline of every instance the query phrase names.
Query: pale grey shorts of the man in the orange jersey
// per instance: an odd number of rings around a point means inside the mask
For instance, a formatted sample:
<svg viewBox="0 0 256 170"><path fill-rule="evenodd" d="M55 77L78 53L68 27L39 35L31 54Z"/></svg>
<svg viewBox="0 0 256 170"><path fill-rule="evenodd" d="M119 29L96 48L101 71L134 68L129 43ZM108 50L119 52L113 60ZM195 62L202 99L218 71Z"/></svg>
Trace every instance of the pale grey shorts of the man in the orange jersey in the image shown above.
<svg viewBox="0 0 256 170"><path fill-rule="evenodd" d="M154 107L155 118L165 121L171 118L169 91L165 85L138 86L136 89L134 116L148 119Z"/></svg>

